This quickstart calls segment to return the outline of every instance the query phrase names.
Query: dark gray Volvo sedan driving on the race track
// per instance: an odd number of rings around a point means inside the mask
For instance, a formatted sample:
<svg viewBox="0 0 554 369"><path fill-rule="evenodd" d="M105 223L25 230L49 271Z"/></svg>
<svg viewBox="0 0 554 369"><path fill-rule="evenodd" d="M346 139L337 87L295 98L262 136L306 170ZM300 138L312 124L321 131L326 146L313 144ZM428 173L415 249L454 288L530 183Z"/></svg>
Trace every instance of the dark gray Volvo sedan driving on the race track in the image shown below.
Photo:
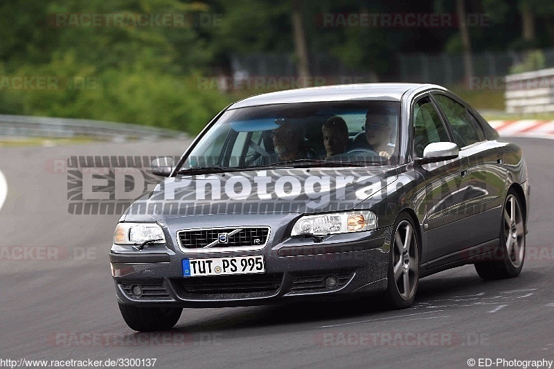
<svg viewBox="0 0 554 369"><path fill-rule="evenodd" d="M409 307L419 278L524 264L521 149L431 84L352 84L235 102L126 211L111 272L137 331L184 307L382 297Z"/></svg>

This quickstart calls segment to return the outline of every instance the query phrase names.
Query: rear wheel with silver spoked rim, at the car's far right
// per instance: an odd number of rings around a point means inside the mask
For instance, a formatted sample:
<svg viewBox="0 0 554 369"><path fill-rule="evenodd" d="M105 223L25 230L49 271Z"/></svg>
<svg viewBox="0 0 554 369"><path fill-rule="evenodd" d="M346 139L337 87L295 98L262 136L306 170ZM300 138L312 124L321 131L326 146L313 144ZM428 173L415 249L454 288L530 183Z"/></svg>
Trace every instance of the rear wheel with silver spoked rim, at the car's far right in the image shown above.
<svg viewBox="0 0 554 369"><path fill-rule="evenodd" d="M509 190L502 210L500 242L492 261L476 262L475 270L484 280L519 276L525 260L525 219L515 190Z"/></svg>

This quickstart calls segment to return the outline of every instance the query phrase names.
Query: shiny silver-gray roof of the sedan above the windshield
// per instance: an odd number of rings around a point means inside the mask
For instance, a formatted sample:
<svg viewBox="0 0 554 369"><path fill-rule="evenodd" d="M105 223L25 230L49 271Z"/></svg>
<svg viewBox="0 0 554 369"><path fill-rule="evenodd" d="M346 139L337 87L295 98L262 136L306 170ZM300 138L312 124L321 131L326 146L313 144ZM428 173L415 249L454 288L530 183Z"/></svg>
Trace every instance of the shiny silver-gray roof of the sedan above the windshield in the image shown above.
<svg viewBox="0 0 554 369"><path fill-rule="evenodd" d="M400 101L407 91L422 87L444 89L435 84L420 83L364 83L339 84L336 86L308 87L251 96L235 102L229 109L257 105L287 104L295 102L324 102L346 100Z"/></svg>

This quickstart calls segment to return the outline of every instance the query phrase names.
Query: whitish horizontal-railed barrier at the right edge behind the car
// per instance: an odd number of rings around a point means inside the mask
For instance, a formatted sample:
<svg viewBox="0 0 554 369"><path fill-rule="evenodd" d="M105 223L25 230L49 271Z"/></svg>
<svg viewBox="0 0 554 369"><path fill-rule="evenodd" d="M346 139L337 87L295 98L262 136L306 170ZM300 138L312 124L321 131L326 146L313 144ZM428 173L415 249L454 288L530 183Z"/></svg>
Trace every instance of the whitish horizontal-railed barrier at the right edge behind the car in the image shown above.
<svg viewBox="0 0 554 369"><path fill-rule="evenodd" d="M554 68L506 75L506 112L554 111Z"/></svg>

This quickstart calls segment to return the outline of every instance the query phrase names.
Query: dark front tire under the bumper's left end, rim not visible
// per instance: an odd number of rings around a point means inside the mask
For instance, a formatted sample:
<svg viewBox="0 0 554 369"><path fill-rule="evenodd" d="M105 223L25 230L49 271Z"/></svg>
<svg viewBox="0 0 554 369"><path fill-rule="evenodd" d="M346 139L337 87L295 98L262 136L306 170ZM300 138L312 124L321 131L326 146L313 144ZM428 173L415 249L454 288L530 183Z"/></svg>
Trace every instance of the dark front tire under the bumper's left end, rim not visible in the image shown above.
<svg viewBox="0 0 554 369"><path fill-rule="evenodd" d="M183 311L180 307L136 307L122 303L119 310L129 328L137 332L170 330Z"/></svg>

